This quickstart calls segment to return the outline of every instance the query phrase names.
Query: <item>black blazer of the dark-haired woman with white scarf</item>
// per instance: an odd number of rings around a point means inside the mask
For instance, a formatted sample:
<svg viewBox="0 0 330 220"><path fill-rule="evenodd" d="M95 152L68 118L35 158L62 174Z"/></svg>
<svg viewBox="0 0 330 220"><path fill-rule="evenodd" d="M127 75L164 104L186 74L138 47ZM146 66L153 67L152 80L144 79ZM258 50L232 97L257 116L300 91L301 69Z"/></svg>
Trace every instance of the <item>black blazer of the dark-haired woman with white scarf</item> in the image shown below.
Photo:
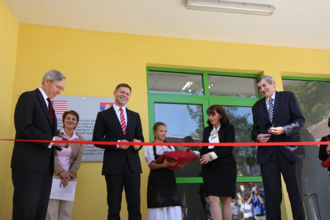
<svg viewBox="0 0 330 220"><path fill-rule="evenodd" d="M213 126L208 126L204 128L203 132L203 143L209 143L210 133L213 129ZM221 125L218 131L219 142L220 143L234 143L235 142L235 128L232 124ZM208 147L202 147L200 150L201 156L207 154L211 151L218 156L215 160L212 160L209 164L212 163L236 163L235 157L233 155L234 147L214 147L214 149L208 149Z"/></svg>

